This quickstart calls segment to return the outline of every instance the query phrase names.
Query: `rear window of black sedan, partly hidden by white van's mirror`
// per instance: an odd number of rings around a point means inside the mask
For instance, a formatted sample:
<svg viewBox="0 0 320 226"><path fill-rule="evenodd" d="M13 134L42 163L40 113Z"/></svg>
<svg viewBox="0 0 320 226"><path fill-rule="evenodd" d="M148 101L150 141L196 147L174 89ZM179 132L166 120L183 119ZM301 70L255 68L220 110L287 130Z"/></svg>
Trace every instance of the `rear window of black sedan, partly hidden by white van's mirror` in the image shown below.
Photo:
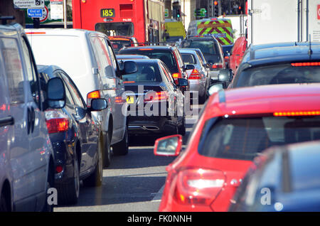
<svg viewBox="0 0 320 226"><path fill-rule="evenodd" d="M139 82L161 82L159 67L157 63L136 62L137 72L129 75L122 75L124 84Z"/></svg>

